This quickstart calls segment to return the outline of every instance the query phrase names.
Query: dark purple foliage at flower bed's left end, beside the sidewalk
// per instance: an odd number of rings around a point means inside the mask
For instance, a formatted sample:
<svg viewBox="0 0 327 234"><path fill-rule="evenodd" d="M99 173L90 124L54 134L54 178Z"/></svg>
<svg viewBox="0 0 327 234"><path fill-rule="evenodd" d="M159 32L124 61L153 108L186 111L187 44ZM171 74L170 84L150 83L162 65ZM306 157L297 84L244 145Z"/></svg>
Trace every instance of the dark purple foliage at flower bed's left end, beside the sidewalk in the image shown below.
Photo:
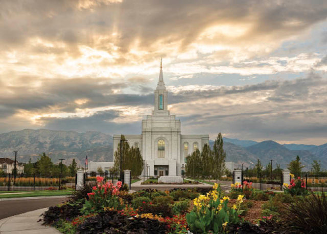
<svg viewBox="0 0 327 234"><path fill-rule="evenodd" d="M45 224L53 224L58 219L72 220L80 214L82 206L83 205L80 203L67 203L62 206L51 206L42 214L43 222Z"/></svg>

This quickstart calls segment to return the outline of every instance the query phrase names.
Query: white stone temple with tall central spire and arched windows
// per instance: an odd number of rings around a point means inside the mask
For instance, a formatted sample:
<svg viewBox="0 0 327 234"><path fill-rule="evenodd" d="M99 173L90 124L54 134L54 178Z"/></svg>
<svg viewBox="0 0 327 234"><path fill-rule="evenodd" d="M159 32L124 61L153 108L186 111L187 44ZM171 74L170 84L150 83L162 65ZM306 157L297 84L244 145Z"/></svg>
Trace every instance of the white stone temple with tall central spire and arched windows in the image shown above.
<svg viewBox="0 0 327 234"><path fill-rule="evenodd" d="M154 91L154 110L142 120L142 134L125 135L130 146L139 147L148 164L149 176L180 176L185 158L197 148L201 151L209 143L209 135L182 135L180 120L168 110L167 90L160 62L159 81ZM113 136L113 152L117 150L121 135Z"/></svg>

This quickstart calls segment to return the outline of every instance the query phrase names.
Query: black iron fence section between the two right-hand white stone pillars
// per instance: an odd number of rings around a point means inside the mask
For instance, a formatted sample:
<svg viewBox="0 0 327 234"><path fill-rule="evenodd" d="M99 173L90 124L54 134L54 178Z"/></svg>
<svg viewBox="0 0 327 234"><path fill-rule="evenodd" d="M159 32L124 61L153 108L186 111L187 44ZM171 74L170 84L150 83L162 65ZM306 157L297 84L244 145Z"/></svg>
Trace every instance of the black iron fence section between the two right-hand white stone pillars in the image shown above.
<svg viewBox="0 0 327 234"><path fill-rule="evenodd" d="M252 188L260 190L283 190L282 173L242 173L242 184L244 181L252 182Z"/></svg>

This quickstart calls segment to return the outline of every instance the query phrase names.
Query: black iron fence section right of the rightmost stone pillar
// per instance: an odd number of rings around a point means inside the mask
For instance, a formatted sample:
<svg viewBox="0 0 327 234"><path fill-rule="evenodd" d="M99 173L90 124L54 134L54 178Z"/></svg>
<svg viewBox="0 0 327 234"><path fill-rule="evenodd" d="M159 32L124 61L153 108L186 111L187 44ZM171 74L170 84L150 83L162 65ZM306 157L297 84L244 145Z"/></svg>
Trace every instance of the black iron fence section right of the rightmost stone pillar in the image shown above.
<svg viewBox="0 0 327 234"><path fill-rule="evenodd" d="M301 173L300 178L306 182L308 190L327 192L327 176L321 174L315 175L311 173Z"/></svg>

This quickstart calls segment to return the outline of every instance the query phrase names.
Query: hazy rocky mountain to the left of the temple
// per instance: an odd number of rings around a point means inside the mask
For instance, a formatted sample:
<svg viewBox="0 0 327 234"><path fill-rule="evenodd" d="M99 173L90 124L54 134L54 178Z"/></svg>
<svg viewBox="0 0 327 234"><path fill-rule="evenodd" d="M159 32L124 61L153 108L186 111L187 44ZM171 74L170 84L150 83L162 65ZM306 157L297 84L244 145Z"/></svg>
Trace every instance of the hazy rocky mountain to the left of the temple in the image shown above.
<svg viewBox="0 0 327 234"><path fill-rule="evenodd" d="M77 133L73 131L30 130L0 134L0 157L12 157L18 151L19 162L37 160L45 152L57 163L65 158L69 164L73 158L84 165L85 155L89 161L112 161L112 136L100 132Z"/></svg>

